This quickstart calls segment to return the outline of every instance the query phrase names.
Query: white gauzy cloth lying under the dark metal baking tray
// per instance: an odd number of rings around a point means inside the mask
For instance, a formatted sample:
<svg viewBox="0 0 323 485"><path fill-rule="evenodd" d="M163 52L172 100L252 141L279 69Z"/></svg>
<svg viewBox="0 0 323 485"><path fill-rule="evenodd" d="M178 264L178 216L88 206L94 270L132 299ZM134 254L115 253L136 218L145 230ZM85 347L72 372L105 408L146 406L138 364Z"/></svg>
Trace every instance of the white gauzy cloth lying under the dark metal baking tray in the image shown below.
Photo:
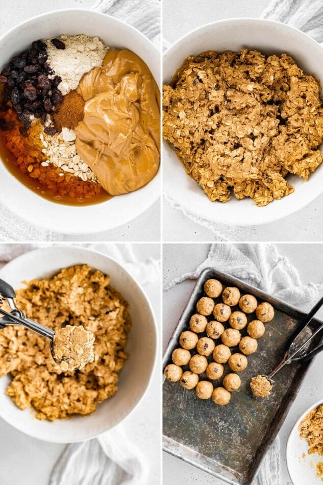
<svg viewBox="0 0 323 485"><path fill-rule="evenodd" d="M303 284L296 268L273 244L212 244L207 258L192 273L184 273L164 289L186 279L196 279L209 266L256 286L290 304L317 300L323 284ZM254 485L281 485L280 441L277 437L265 455Z"/></svg>

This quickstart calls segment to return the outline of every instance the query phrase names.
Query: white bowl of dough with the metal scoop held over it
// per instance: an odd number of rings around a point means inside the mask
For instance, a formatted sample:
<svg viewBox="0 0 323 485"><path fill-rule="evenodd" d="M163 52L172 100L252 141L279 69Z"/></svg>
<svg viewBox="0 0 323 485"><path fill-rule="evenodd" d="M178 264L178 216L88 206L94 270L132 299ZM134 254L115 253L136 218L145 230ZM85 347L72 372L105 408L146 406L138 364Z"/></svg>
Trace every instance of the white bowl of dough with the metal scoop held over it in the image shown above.
<svg viewBox="0 0 323 485"><path fill-rule="evenodd" d="M129 301L132 329L127 351L130 357L119 374L116 394L99 404L90 416L75 416L53 422L39 421L31 409L22 411L5 394L10 377L0 379L0 417L34 438L53 443L89 440L125 419L142 399L156 360L157 332L152 307L140 285L110 257L82 248L42 248L10 261L0 270L0 278L18 288L23 286L22 280L46 278L61 268L79 263L87 263L109 274L112 286Z"/></svg>

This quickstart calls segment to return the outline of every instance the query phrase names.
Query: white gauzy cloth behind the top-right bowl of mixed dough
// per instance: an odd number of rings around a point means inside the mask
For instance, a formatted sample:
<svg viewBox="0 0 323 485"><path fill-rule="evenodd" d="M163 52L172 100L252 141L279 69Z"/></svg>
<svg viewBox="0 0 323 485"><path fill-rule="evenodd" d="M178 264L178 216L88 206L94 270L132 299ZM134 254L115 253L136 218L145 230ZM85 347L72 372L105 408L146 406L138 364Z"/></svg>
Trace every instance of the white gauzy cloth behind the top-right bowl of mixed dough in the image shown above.
<svg viewBox="0 0 323 485"><path fill-rule="evenodd" d="M261 18L287 23L309 34L317 42L323 42L322 0L272 0L261 15ZM164 39L163 45L164 47L169 46L167 39ZM254 226L228 226L214 223L203 217L196 216L165 192L164 197L173 209L181 210L194 223L210 229L214 233L215 241L247 241L251 239L250 236L257 229Z"/></svg>

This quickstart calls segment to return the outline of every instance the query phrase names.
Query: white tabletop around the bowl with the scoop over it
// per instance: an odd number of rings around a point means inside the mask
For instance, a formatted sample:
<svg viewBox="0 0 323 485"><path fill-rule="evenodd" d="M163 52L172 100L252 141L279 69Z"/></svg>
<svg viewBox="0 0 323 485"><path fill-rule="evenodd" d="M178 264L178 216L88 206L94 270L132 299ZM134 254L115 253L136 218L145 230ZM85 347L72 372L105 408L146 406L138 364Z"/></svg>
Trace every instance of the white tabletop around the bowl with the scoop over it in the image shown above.
<svg viewBox="0 0 323 485"><path fill-rule="evenodd" d="M141 260L160 258L159 244L134 245ZM0 265L2 266L2 265ZM160 328L160 282L143 285ZM160 356L158 356L159 362ZM160 368L134 413L123 422L129 438L150 464L149 483L160 484ZM35 440L0 418L0 484L46 485L56 460L65 445ZM72 483L70 485L73 485ZM90 485L84 483L84 485ZM113 484L111 484L113 485Z"/></svg>

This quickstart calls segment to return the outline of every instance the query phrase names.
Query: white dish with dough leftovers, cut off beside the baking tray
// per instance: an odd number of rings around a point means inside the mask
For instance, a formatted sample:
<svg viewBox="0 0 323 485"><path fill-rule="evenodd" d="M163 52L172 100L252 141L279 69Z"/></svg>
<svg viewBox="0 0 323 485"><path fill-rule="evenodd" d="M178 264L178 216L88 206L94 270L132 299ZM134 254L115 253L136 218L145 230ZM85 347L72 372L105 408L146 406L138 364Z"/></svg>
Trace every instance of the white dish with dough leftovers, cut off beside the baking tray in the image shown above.
<svg viewBox="0 0 323 485"><path fill-rule="evenodd" d="M286 463L288 473L293 485L318 485L322 483L320 477L316 475L316 464L322 462L322 457L317 454L308 454L308 444L305 438L300 438L299 425L305 416L314 407L323 403L323 399L315 402L306 409L302 416L294 424L286 446ZM304 454L304 457L303 457Z"/></svg>

